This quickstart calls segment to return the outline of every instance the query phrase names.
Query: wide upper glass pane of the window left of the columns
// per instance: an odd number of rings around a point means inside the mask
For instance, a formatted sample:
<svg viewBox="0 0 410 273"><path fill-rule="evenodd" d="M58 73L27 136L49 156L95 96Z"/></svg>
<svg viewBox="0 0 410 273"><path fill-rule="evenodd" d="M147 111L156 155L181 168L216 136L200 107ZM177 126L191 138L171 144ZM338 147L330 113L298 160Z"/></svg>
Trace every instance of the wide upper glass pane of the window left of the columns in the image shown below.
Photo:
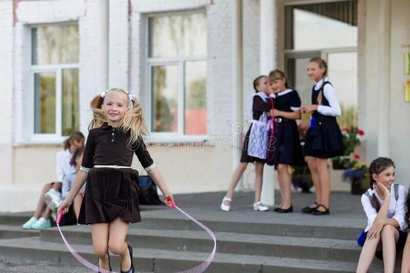
<svg viewBox="0 0 410 273"><path fill-rule="evenodd" d="M149 18L149 56L175 57L207 54L205 13Z"/></svg>

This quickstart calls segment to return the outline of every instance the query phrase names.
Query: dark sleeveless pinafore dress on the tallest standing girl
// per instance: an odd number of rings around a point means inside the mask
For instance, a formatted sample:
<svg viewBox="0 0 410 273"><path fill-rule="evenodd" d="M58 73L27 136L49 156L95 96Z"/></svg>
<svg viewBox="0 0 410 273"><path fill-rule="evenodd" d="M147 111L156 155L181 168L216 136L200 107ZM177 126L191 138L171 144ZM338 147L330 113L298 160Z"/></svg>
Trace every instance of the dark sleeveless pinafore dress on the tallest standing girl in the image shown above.
<svg viewBox="0 0 410 273"><path fill-rule="evenodd" d="M315 90L315 87L313 87L312 104L317 104L317 97L322 90L321 105L330 106L323 92L324 86L330 84L329 81L325 81L319 90ZM312 113L312 117L315 122L311 122L311 127L306 133L304 155L318 158L332 158L343 155L343 137L336 117L322 115L317 111Z"/></svg>

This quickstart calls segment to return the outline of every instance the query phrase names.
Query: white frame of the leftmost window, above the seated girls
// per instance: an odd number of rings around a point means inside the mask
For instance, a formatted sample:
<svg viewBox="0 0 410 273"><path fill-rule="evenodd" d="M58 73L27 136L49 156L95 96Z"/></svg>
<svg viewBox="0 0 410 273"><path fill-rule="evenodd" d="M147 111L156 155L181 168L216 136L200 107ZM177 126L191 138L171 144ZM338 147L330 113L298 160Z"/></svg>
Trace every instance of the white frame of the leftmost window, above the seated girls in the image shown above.
<svg viewBox="0 0 410 273"><path fill-rule="evenodd" d="M78 22L76 22L78 25ZM53 25L53 26L64 26L64 25L73 25L73 22L66 23L66 24L61 24L61 23L51 23L47 24L47 26ZM37 27L42 27L45 25L32 25L30 26L30 37L29 37L29 57L30 57L30 62L29 62L29 73L27 76L29 77L28 83L29 83L29 94L28 94L28 99L30 101L28 109L28 113L32 113L32 115L28 115L31 117L29 120L26 120L25 124L30 130L28 132L30 133L29 136L29 142L31 143L61 143L63 142L67 136L62 135L61 127L63 125L63 118L61 115L62 111L62 97L63 97L63 69L78 69L79 70L79 64L57 64L57 65L32 65L32 29L37 28ZM78 33L79 34L79 33ZM79 57L79 56L78 56ZM35 133L34 129L34 117L35 117L35 100L34 100L34 92L35 92L35 86L34 86L34 75L36 73L55 73L55 133L54 134L41 134L41 133ZM78 82L79 85L79 82Z"/></svg>

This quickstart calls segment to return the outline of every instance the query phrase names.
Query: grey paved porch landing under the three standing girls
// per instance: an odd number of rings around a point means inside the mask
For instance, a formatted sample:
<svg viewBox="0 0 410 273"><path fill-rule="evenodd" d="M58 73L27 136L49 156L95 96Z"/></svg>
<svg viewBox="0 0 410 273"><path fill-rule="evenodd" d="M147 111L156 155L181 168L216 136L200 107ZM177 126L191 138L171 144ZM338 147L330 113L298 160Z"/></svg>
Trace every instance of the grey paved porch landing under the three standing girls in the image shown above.
<svg viewBox="0 0 410 273"><path fill-rule="evenodd" d="M278 214L273 211L254 212L254 193L235 193L232 201L231 211L223 212L219 208L224 193L202 193L175 196L176 204L201 220L238 221L255 223L295 223L304 225L343 226L360 227L366 225L365 214L360 203L360 197L346 192L335 192L331 194L331 215L313 216L306 215L300 210L314 202L314 194L292 194L294 213ZM276 193L276 203L280 202L279 193ZM183 218L177 211L170 209L157 209L142 212L144 217L161 218Z"/></svg>

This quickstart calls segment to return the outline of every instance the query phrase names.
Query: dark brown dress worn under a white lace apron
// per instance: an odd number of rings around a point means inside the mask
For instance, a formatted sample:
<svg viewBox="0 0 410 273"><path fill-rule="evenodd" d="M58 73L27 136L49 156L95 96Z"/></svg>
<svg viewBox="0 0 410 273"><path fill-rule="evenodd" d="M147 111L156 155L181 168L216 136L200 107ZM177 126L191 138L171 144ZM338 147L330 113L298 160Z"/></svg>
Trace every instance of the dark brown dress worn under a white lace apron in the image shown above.
<svg viewBox="0 0 410 273"><path fill-rule="evenodd" d="M252 116L253 119L259 120L260 116L263 114L263 112L269 112L272 110L272 102L271 99L268 97L267 101L263 101L263 99L257 95L253 97L253 104L252 104ZM249 127L249 130L243 139L243 145L242 145L242 155L240 157L240 162L261 162L265 163L265 159L254 157L248 155L248 145L249 145L249 134L251 133L251 128L252 124Z"/></svg>

